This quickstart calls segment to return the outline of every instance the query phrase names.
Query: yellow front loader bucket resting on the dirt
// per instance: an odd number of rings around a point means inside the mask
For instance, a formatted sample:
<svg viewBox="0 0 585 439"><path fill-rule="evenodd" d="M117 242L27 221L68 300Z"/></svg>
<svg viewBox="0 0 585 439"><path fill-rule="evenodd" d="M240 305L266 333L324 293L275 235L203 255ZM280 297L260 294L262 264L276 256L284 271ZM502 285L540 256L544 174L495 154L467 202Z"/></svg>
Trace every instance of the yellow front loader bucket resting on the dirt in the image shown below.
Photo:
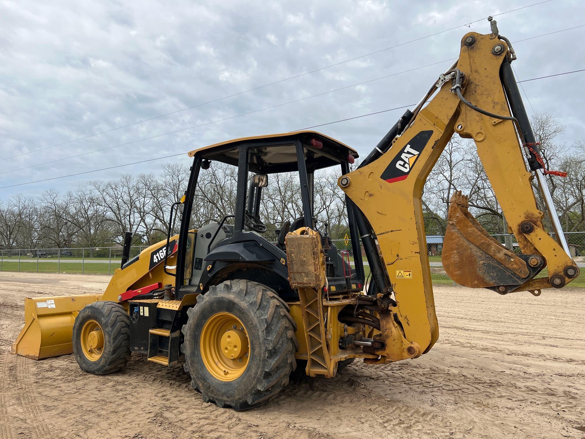
<svg viewBox="0 0 585 439"><path fill-rule="evenodd" d="M101 296L35 297L25 299L25 327L12 343L12 354L39 360L73 352L73 323L81 309Z"/></svg>

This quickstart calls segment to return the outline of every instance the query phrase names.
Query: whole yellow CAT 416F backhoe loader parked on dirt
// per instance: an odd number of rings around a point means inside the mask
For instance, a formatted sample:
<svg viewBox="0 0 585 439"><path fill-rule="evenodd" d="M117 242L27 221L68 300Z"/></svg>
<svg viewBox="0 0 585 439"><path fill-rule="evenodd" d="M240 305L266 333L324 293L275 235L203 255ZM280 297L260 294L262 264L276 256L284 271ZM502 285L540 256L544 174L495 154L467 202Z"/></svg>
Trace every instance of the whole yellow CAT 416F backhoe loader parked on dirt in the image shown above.
<svg viewBox="0 0 585 439"><path fill-rule="evenodd" d="M122 266L102 296L26 299L12 351L33 359L73 352L97 375L119 371L132 352L163 366L184 363L206 402L236 410L275 397L297 367L332 378L355 358L417 358L439 337L421 194L454 133L476 143L521 252L491 238L456 193L442 256L448 275L499 294L565 286L579 268L546 186L515 59L495 21L487 35L467 33L457 61L351 172L356 151L314 131L190 152L187 191L169 220L180 211L179 234L169 230L166 241L129 260L126 236ZM238 168L235 211L194 228L192 213L204 208L194 202L197 181L218 162ZM340 168L353 261L314 217L314 173L331 166ZM272 243L259 215L263 188L290 172L300 181L302 216L285 221ZM534 178L555 239L543 228ZM548 277L535 279L545 267Z"/></svg>

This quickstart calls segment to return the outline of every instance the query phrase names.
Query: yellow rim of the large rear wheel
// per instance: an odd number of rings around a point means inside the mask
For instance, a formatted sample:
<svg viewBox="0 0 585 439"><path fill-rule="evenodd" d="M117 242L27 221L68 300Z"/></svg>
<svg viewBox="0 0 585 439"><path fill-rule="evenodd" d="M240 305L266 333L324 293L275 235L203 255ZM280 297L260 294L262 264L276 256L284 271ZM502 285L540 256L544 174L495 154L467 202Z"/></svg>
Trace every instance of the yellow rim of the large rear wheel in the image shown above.
<svg viewBox="0 0 585 439"><path fill-rule="evenodd" d="M209 317L199 338L205 368L220 381L233 381L250 361L248 333L242 321L230 313Z"/></svg>

